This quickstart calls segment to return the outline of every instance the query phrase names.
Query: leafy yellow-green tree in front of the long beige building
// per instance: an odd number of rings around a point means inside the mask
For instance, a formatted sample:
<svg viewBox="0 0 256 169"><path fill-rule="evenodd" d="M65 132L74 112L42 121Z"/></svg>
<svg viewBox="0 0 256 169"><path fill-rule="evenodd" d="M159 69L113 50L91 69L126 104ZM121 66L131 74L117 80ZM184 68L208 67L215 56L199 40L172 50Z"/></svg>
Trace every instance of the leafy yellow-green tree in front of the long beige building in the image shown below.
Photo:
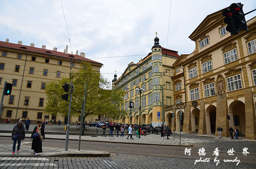
<svg viewBox="0 0 256 169"><path fill-rule="evenodd" d="M71 83L75 86L74 93L72 93L70 111L72 116L79 116L81 113L86 82L85 116L104 114L110 117L118 117L125 115L125 111L120 110L124 92L122 90L111 89L111 83L100 75L100 73L93 71L90 63L82 62L78 73L73 72L71 75ZM65 94L62 88L62 85L65 83L70 83L69 77L62 77L58 81L50 81L46 84L47 103L44 107L46 114L52 114L54 116L68 115L69 102L63 100L61 97L61 95Z"/></svg>

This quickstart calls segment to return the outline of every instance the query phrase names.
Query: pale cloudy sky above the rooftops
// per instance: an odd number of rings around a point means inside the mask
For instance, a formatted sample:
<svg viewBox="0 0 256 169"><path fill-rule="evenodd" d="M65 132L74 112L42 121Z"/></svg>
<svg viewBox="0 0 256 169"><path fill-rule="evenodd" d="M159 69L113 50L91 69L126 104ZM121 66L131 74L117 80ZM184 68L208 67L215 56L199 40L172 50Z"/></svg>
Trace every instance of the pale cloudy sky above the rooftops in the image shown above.
<svg viewBox="0 0 256 169"><path fill-rule="evenodd" d="M68 33L62 12L66 18ZM255 0L241 0L244 13ZM127 65L151 52L154 38L162 47L189 54L195 49L188 36L204 20L234 3L231 0L0 0L0 41L35 43L68 53L84 52L104 64L100 73L109 81ZM170 16L170 24L169 24ZM246 15L246 20L256 11ZM169 29L168 29L169 28ZM130 56L132 55L132 56ZM117 57L126 56L126 57ZM108 57L108 58L102 58Z"/></svg>

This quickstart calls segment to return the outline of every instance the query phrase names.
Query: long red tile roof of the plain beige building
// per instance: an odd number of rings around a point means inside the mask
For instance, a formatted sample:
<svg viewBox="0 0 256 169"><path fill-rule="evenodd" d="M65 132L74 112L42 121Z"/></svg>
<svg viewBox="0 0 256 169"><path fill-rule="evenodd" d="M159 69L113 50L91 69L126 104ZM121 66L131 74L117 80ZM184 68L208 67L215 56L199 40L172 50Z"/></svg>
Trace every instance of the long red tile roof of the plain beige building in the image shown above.
<svg viewBox="0 0 256 169"><path fill-rule="evenodd" d="M49 49L42 49L42 48L31 47L31 46L26 46L26 45L19 45L16 43L9 43L9 42L4 42L4 41L0 41L0 47L9 48L9 49L17 49L17 50L21 50L21 51L29 51L29 52L40 53L40 54L45 54L45 55L64 57L64 58L68 58L68 59L70 59L71 55L72 55L69 53L66 55L64 52L58 52L58 51L53 51L53 50L49 50ZM73 55L73 56L74 56L74 59L76 59L76 60L88 61L91 63L96 63L96 64L102 65L102 63L93 61L91 59L87 59L80 55Z"/></svg>

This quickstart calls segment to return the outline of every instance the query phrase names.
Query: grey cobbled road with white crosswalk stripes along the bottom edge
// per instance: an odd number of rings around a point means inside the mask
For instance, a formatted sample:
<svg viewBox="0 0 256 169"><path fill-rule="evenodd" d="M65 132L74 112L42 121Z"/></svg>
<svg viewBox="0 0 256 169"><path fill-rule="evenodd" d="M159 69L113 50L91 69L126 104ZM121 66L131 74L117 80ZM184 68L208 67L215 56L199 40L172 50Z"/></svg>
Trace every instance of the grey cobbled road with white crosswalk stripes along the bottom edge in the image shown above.
<svg viewBox="0 0 256 169"><path fill-rule="evenodd" d="M194 159L156 157L148 155L112 154L110 157L0 157L2 169L253 169L256 165L220 161L195 163Z"/></svg>

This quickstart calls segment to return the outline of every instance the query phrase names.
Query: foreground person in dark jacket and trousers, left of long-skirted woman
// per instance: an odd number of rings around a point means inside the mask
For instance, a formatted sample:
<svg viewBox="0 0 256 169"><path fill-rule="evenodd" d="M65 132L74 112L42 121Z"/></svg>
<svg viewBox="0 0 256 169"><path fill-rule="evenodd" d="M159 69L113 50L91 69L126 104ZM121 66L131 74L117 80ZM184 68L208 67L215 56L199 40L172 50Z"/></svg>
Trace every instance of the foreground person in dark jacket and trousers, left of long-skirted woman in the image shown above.
<svg viewBox="0 0 256 169"><path fill-rule="evenodd" d="M21 140L24 140L24 139L25 139L24 125L22 124L22 122L18 122L18 124L16 124L12 129L12 140L13 140L12 155L14 155L17 141L18 141L17 153L20 153L20 143L21 143Z"/></svg>

